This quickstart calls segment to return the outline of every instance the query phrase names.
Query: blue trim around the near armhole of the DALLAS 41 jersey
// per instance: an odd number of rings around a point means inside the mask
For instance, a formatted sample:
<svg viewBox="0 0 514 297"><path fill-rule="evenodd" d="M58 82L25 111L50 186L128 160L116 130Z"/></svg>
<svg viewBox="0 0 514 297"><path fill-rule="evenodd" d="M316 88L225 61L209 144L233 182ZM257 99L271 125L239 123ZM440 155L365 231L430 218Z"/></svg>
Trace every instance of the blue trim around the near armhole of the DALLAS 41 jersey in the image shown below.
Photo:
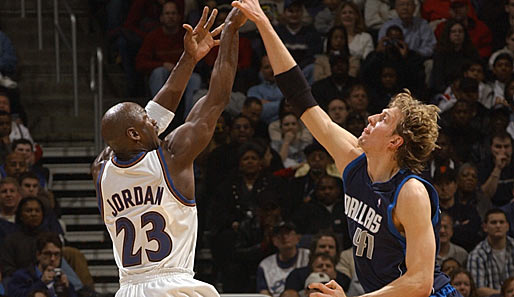
<svg viewBox="0 0 514 297"><path fill-rule="evenodd" d="M436 208L434 216L432 217L432 220L431 220L432 227L435 228L437 222L439 221L439 198L437 196L437 192L436 192L435 188L428 181L426 181L425 179L423 179L417 175L410 174L410 175L406 176L402 180L402 182L398 185L396 192L394 193L393 203L391 203L387 208L388 229L391 232L391 234L393 234L393 236L396 237L396 239L398 239L398 242L400 242L400 244L402 245L404 254L406 254L406 246L407 246L406 239L403 235L400 234L400 232L398 231L398 229L396 229L396 226L393 223L393 209L396 206L396 202L398 201L398 195L400 194L400 190L402 189L403 185L411 178L417 179L421 183L423 183L425 188L427 188L428 199L430 199L430 205L431 206L434 205ZM432 201L432 199L434 199L435 201ZM430 212L432 212L432 210L430 210Z"/></svg>

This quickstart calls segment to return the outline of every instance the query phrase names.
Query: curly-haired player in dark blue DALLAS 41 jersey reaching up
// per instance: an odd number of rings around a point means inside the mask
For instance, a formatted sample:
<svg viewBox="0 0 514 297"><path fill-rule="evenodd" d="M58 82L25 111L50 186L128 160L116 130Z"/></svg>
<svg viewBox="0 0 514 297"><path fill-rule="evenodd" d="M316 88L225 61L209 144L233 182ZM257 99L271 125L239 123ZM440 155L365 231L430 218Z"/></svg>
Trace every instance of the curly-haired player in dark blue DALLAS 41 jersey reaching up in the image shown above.
<svg viewBox="0 0 514 297"><path fill-rule="evenodd" d="M300 68L273 30L258 0L232 2L255 22L284 97L327 149L343 176L345 212L363 296L460 296L435 265L438 197L415 173L438 135L437 107L396 95L370 116L359 138L317 105ZM335 281L313 284L311 297L345 296Z"/></svg>

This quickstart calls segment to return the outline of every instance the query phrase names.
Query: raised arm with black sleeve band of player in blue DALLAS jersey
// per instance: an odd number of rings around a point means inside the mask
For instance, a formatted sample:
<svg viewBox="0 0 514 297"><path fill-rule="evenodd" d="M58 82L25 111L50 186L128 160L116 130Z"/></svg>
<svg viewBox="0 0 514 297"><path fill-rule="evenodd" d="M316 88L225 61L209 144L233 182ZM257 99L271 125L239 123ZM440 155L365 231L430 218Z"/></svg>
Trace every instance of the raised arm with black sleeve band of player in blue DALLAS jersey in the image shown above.
<svg viewBox="0 0 514 297"><path fill-rule="evenodd" d="M257 25L275 73L277 85L312 135L332 155L337 168L342 172L346 165L361 153L357 147L357 138L335 124L318 106L311 94L309 84L262 11L259 1L233 1L232 6L241 9Z"/></svg>

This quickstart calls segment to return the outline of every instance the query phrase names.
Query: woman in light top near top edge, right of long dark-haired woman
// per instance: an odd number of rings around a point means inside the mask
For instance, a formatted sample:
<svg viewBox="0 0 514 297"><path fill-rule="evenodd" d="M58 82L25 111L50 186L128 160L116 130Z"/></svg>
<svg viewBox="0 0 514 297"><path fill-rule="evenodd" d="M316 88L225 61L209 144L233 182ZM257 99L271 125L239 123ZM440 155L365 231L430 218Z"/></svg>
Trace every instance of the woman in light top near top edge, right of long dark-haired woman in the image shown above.
<svg viewBox="0 0 514 297"><path fill-rule="evenodd" d="M344 26L348 35L348 48L350 49L350 76L357 77L360 63L374 50L373 39L366 32L364 17L359 7L351 1L339 5L336 14L336 25ZM355 61L352 64L352 61Z"/></svg>

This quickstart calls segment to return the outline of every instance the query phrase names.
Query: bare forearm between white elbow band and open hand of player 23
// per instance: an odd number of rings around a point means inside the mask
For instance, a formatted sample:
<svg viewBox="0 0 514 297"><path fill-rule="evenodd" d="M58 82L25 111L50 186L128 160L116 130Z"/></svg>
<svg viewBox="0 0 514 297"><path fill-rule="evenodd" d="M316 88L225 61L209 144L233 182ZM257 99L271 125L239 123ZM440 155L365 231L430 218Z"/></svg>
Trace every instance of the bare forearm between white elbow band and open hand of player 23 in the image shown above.
<svg viewBox="0 0 514 297"><path fill-rule="evenodd" d="M183 52L175 68L171 71L168 80L166 80L166 83L153 100L174 112L180 103L195 65L196 61L194 58Z"/></svg>

